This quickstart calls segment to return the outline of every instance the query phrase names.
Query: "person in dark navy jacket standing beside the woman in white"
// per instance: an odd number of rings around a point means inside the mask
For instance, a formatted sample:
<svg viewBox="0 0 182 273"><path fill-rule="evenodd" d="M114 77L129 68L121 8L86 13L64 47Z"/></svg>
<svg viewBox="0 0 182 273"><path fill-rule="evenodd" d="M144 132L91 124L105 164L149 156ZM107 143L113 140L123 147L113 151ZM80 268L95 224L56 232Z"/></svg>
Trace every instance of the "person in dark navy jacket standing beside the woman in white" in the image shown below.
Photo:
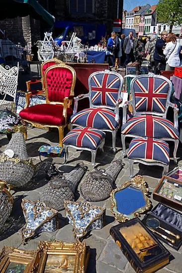
<svg viewBox="0 0 182 273"><path fill-rule="evenodd" d="M163 50L166 46L166 38L168 37L168 32L164 30L161 33L161 38L156 41L156 49L154 52L154 73L159 74L160 70L165 70L166 61Z"/></svg>

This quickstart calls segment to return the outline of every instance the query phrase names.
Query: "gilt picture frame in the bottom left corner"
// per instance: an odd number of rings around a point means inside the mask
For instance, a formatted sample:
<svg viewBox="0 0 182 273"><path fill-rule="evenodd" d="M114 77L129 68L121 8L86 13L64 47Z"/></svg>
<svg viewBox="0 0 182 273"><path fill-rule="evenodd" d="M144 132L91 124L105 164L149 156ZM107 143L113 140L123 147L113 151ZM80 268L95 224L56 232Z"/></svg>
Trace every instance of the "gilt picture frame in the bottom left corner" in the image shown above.
<svg viewBox="0 0 182 273"><path fill-rule="evenodd" d="M33 273L32 266L37 251L19 250L4 246L0 252L0 273Z"/></svg>

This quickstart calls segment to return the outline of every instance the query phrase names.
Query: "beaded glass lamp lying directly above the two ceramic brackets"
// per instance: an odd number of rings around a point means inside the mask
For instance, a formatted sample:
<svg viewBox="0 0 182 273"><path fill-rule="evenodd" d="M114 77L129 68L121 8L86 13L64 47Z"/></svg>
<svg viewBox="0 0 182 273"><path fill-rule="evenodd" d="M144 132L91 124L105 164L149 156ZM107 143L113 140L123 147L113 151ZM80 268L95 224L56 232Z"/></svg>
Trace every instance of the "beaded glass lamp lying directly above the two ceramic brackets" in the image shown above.
<svg viewBox="0 0 182 273"><path fill-rule="evenodd" d="M76 168L65 176L57 176L49 181L41 195L41 202L49 208L64 209L64 201L75 199L75 189L86 173L86 167L78 164Z"/></svg>

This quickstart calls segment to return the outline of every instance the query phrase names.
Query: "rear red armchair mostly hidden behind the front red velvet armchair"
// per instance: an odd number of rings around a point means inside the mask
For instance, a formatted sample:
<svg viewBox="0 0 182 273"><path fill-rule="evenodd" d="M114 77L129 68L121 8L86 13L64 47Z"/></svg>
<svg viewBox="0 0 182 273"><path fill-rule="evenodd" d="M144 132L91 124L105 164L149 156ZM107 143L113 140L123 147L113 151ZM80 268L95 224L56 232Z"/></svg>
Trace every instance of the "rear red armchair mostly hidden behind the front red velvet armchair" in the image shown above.
<svg viewBox="0 0 182 273"><path fill-rule="evenodd" d="M55 58L45 61L41 64L41 67L40 67L41 78L40 79L31 79L31 80L26 81L27 93L25 94L25 97L26 97L25 108L29 107L29 105L30 105L30 96L44 94L44 92L45 92L45 84L44 84L45 70L51 66L60 65L62 63L63 63L62 61L55 59ZM39 83L42 85L42 89L36 90L35 88L37 87L37 84L39 84Z"/></svg>

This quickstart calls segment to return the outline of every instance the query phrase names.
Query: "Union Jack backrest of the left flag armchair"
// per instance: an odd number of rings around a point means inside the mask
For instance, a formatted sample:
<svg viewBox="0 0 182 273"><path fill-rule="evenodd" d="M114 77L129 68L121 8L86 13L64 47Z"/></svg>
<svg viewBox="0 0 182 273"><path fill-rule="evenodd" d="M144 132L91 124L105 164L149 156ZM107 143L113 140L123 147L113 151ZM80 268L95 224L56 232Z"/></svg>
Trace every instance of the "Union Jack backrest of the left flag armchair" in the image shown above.
<svg viewBox="0 0 182 273"><path fill-rule="evenodd" d="M93 73L89 78L92 106L115 107L120 98L122 81L120 75L106 72Z"/></svg>

